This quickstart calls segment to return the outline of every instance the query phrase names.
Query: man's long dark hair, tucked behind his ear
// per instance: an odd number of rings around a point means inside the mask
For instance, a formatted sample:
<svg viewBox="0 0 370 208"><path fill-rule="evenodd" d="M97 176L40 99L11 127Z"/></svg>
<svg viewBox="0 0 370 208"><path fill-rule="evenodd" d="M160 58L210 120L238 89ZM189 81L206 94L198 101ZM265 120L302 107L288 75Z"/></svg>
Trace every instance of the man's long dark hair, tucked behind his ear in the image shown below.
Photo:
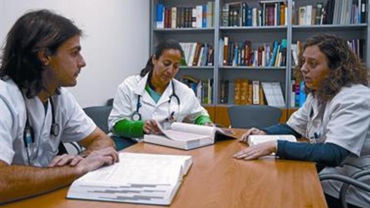
<svg viewBox="0 0 370 208"><path fill-rule="evenodd" d="M6 37L1 57L0 77L11 78L28 98L43 89L45 67L38 52L45 48L54 55L58 47L82 31L65 17L49 10L30 11L21 16Z"/></svg>

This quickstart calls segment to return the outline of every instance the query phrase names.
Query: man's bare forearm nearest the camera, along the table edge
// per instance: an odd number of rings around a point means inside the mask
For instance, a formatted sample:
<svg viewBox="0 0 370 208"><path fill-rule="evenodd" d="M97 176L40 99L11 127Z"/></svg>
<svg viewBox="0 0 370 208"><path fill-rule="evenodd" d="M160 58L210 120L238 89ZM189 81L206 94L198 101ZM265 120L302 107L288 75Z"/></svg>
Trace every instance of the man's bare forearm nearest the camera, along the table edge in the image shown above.
<svg viewBox="0 0 370 208"><path fill-rule="evenodd" d="M65 187L85 174L81 167L0 166L0 204Z"/></svg>

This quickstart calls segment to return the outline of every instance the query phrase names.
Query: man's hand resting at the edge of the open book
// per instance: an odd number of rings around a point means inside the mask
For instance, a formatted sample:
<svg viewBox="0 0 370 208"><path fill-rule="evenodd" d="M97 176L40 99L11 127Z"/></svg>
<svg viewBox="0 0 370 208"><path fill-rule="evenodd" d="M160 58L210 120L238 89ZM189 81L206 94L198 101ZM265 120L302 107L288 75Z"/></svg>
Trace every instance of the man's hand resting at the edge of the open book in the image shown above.
<svg viewBox="0 0 370 208"><path fill-rule="evenodd" d="M86 158L78 162L77 168L81 168L83 174L96 170L105 165L118 162L118 153L112 147L92 151Z"/></svg>

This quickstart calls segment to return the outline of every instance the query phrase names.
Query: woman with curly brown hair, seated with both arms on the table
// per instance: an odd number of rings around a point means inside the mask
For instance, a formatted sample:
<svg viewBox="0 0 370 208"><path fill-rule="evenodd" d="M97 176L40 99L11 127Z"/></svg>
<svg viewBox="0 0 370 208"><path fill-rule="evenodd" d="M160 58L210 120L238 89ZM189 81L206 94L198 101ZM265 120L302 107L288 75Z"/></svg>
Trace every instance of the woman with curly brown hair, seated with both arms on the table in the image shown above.
<svg viewBox="0 0 370 208"><path fill-rule="evenodd" d="M307 99L287 121L243 135L293 134L309 143L269 141L233 155L253 160L275 152L279 158L314 161L320 174L352 175L370 169L370 88L367 68L342 38L319 34L306 40L299 55L296 77L305 81ZM329 207L341 207L342 183L323 181ZM370 207L370 195L349 188L347 202L352 207Z"/></svg>

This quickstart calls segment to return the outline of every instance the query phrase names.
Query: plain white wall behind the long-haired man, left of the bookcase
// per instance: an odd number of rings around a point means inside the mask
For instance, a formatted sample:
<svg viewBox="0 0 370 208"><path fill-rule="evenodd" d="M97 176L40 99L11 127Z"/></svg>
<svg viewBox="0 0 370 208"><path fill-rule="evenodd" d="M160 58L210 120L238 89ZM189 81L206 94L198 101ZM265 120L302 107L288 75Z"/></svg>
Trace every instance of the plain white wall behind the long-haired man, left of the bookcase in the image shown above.
<svg viewBox="0 0 370 208"><path fill-rule="evenodd" d="M27 10L51 9L83 29L87 66L68 88L82 107L102 105L149 57L148 0L0 0L0 43Z"/></svg>

